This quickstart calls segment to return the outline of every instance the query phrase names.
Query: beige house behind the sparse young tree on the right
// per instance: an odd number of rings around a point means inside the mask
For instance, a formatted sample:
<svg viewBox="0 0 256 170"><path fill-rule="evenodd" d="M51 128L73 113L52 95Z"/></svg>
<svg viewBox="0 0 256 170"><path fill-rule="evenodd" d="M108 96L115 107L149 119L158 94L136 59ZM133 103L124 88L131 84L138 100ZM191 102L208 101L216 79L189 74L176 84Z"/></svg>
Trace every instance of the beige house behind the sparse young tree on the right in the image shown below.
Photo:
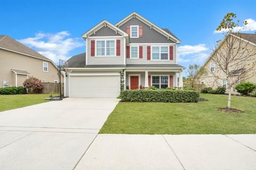
<svg viewBox="0 0 256 170"><path fill-rule="evenodd" d="M206 75L204 75L201 78L201 84L205 84L205 87L212 87L217 88L218 86L221 87L227 87L227 78L225 73L218 68L219 64L216 64L216 61L220 61L221 58L218 60L213 60L213 57L218 58L217 54L214 55L215 52L221 55L225 55L226 51L225 48L227 47L227 42L230 42L230 40L227 40L229 36L232 36L232 41L235 41L234 48L238 47L238 44L245 47L247 49L247 54L244 53L236 53L234 50L234 55L237 57L244 57L245 55L250 54L256 54L256 34L250 34L250 33L239 33L239 37L235 35L228 35L223 40L222 43L215 49L215 51L207 58L205 63L202 65L204 69L206 70ZM234 39L235 38L235 39ZM250 81L253 83L256 83L256 65L254 64L256 62L256 55L252 55L250 57L249 61L241 63L241 61L237 60L237 62L234 62L228 70L230 76L230 82L235 82L238 80L238 82L243 81ZM223 63L223 61L222 61ZM252 65L254 64L254 67L252 69ZM218 78L216 78L218 77ZM226 91L227 92L227 91ZM234 88L231 88L231 94L238 94Z"/></svg>

